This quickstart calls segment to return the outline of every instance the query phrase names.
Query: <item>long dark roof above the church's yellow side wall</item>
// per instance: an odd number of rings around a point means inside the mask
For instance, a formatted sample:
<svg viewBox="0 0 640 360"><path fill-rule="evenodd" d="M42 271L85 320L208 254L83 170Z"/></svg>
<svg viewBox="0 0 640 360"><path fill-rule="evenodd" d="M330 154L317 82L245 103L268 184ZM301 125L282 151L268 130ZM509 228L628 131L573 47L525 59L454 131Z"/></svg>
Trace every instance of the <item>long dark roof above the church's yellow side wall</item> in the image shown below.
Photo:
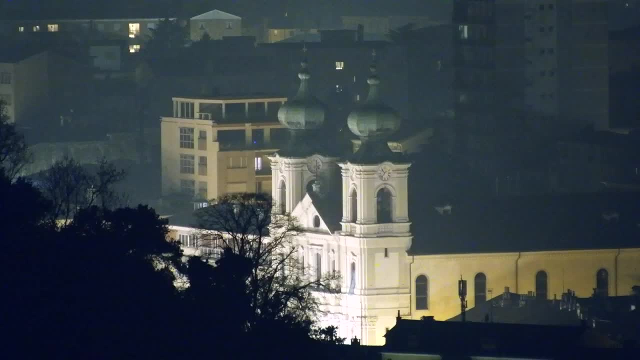
<svg viewBox="0 0 640 360"><path fill-rule="evenodd" d="M415 255L640 247L640 193L465 199L451 215L409 202Z"/></svg>

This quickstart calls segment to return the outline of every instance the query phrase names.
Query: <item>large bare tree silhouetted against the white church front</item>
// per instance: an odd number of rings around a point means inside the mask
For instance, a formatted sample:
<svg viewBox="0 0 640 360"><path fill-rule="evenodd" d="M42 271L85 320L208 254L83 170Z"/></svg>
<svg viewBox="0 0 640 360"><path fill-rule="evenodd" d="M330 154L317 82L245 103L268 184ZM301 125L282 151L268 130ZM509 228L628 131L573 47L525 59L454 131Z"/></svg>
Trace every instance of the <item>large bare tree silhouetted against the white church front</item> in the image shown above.
<svg viewBox="0 0 640 360"><path fill-rule="evenodd" d="M196 211L202 229L200 245L231 250L250 260L249 327L259 326L261 321L284 320L310 329L320 305L314 293L337 292L339 274L308 274L296 246L300 225L290 214L276 215L273 209L268 195L225 195Z"/></svg>

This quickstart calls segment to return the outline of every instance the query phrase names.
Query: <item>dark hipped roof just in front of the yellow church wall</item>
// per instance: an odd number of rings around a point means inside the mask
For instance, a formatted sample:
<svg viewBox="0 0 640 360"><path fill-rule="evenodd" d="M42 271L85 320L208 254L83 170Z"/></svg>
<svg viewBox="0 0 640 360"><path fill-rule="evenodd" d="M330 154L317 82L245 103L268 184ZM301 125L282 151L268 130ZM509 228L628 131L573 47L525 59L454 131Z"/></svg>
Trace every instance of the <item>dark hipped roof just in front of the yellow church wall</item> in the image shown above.
<svg viewBox="0 0 640 360"><path fill-rule="evenodd" d="M535 299L516 293L502 293L467 310L468 322L484 322L487 318L496 323L520 323L530 325L579 326L576 311L561 307L559 300ZM447 321L462 321L457 315Z"/></svg>

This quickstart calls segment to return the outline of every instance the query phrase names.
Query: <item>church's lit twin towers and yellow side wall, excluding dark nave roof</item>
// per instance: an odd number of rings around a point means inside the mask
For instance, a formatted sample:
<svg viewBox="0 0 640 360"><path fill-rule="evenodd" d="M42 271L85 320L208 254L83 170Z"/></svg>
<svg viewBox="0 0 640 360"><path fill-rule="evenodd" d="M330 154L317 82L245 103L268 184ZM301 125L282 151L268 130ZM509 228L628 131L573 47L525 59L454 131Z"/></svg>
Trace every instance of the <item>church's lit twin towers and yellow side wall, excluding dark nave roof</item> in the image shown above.
<svg viewBox="0 0 640 360"><path fill-rule="evenodd" d="M461 276L469 284L468 307L507 289L553 299L568 288L579 297L595 290L628 295L640 284L640 246L422 250L417 243L430 239L429 233L412 234L412 222L422 221L422 214L409 213L416 200L408 186L411 163L387 145L400 119L383 103L375 65L371 70L369 97L348 118L349 129L362 140L355 154L340 156L313 144L322 140L316 131L324 106L309 93L306 61L298 94L278 113L294 141L269 158L271 195L277 210L291 213L305 229L297 246L310 273L342 275L340 293L318 294L325 304L320 325L336 325L340 336L357 336L363 345L383 345L398 311L413 319L458 315Z"/></svg>

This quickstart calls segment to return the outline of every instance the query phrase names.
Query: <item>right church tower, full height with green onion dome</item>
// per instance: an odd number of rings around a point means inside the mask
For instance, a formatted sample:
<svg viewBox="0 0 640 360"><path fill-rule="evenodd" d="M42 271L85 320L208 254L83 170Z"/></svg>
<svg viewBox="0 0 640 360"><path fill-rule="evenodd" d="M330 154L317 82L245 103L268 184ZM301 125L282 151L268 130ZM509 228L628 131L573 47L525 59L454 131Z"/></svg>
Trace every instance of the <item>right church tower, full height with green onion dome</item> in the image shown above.
<svg viewBox="0 0 640 360"><path fill-rule="evenodd" d="M349 114L348 126L362 145L339 164L342 174L340 238L346 245L348 293L360 304L363 343L384 343L396 311L410 315L411 289L407 250L412 236L407 205L410 162L392 152L388 137L400 126L396 111L381 99L377 69L371 65L369 95ZM389 304L394 304L392 307Z"/></svg>

